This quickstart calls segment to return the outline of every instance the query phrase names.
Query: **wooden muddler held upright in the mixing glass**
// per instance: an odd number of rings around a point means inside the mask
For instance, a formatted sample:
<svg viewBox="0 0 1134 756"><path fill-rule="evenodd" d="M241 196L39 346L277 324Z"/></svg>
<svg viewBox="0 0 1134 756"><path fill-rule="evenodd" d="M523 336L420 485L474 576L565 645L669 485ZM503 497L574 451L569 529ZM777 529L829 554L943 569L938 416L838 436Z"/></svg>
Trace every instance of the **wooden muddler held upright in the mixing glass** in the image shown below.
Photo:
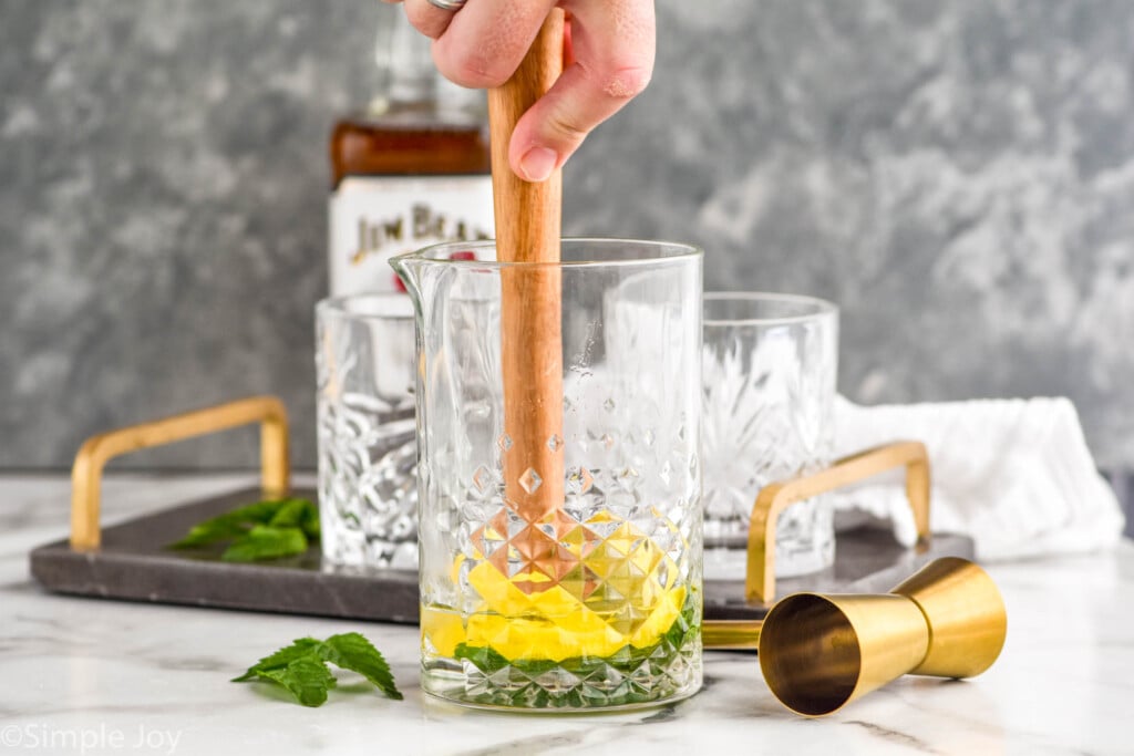
<svg viewBox="0 0 1134 756"><path fill-rule="evenodd" d="M559 235L562 180L559 170L540 184L516 176L508 143L519 117L562 71L564 14L548 16L519 68L489 91L492 193L501 284L501 369L505 494L509 506L535 523L564 503L562 337L560 332Z"/></svg>

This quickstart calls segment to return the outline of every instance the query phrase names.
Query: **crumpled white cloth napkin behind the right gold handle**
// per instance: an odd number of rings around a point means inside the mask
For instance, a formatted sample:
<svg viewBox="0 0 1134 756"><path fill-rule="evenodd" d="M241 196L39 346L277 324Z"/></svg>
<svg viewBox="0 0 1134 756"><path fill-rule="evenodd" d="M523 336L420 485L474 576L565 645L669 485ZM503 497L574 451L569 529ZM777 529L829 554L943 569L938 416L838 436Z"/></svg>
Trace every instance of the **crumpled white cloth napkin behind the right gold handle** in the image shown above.
<svg viewBox="0 0 1134 756"><path fill-rule="evenodd" d="M971 536L981 560L1089 552L1122 537L1118 500L1067 399L862 407L840 398L835 417L838 457L922 441L933 486L931 528ZM900 543L916 541L899 473L833 499L840 528L889 520Z"/></svg>

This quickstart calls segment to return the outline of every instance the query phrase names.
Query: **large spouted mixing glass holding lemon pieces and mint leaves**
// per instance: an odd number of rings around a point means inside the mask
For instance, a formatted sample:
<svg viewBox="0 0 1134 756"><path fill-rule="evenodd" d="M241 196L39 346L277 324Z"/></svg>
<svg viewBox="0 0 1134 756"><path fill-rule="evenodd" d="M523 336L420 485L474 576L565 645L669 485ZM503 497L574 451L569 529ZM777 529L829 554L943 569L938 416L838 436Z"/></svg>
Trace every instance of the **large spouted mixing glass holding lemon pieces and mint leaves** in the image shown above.
<svg viewBox="0 0 1134 756"><path fill-rule="evenodd" d="M395 261L420 305L422 687L462 704L620 708L701 686L701 254L561 254L557 469L503 461L501 278L538 265L498 264L491 243ZM509 499L507 476L533 493L553 475L549 511Z"/></svg>

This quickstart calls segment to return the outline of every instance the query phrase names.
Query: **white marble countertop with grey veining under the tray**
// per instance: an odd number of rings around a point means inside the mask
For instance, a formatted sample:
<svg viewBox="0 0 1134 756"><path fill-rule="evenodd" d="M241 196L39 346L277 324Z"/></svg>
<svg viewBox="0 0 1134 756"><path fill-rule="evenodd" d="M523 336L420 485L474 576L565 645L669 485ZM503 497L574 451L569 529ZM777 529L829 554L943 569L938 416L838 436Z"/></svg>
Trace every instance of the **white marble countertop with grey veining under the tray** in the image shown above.
<svg viewBox="0 0 1134 756"><path fill-rule="evenodd" d="M254 477L115 476L104 523ZM155 495L156 494L156 495ZM51 595L27 552L64 537L64 476L0 477L0 753L5 754L1131 754L1134 544L990 568L1008 604L1000 660L966 681L904 678L822 720L782 708L754 656L706 653L672 707L508 715L425 699L416 628ZM305 708L229 678L301 636L358 630L403 702L344 685ZM697 751L694 751L697 749Z"/></svg>

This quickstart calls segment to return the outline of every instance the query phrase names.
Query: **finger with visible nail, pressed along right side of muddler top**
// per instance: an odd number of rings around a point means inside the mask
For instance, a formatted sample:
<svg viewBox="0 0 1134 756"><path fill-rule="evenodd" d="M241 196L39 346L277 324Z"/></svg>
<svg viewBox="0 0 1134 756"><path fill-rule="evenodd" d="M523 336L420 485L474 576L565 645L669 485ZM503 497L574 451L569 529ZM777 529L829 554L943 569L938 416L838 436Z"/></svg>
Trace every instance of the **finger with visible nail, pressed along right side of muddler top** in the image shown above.
<svg viewBox="0 0 1134 756"><path fill-rule="evenodd" d="M569 7L575 61L519 119L508 148L513 170L528 181L542 181L561 167L595 126L645 88L653 73L652 0L586 0Z"/></svg>

